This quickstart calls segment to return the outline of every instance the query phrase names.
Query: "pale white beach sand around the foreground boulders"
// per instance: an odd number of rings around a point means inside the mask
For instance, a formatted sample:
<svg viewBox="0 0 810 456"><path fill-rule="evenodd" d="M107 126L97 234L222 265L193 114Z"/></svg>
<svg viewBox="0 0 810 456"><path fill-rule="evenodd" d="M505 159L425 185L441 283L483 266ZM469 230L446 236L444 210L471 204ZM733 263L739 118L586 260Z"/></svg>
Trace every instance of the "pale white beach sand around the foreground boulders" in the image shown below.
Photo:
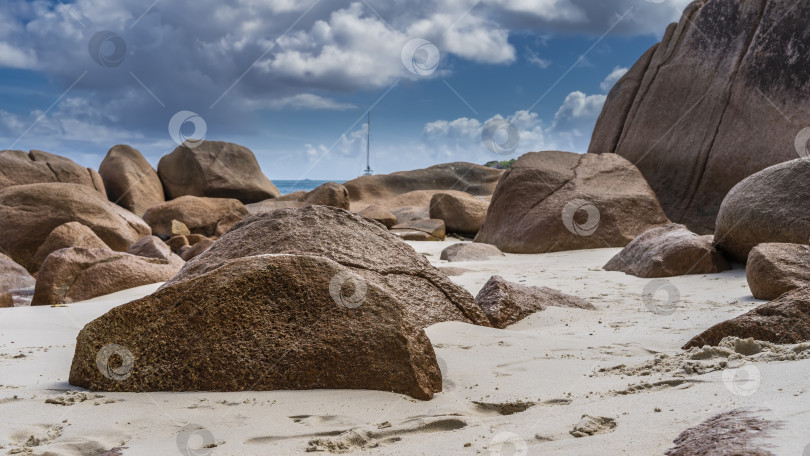
<svg viewBox="0 0 810 456"><path fill-rule="evenodd" d="M439 254L452 242L410 244L443 266ZM801 455L810 444L810 346L679 348L761 303L745 272L650 285L601 270L618 251L453 263L463 270L452 280L473 295L498 274L597 311L549 307L506 330L428 328L444 391L426 402L379 391L84 392L67 383L81 327L159 285L67 307L0 309L0 454L654 455L686 428L747 407L782 422L764 442L770 451ZM645 287L649 296L655 286L665 286L659 302L645 302ZM674 306L663 302L666 287L680 295Z"/></svg>

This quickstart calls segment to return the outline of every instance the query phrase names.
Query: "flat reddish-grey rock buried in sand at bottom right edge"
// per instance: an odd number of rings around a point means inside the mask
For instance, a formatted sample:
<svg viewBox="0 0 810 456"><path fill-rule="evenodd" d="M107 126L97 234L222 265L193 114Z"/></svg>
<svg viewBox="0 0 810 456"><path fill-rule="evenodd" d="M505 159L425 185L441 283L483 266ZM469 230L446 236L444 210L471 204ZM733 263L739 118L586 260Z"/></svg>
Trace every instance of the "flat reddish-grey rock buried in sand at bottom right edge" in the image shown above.
<svg viewBox="0 0 810 456"><path fill-rule="evenodd" d="M778 421L757 416L753 410L734 409L715 415L683 431L666 456L774 456L768 439L781 427Z"/></svg>

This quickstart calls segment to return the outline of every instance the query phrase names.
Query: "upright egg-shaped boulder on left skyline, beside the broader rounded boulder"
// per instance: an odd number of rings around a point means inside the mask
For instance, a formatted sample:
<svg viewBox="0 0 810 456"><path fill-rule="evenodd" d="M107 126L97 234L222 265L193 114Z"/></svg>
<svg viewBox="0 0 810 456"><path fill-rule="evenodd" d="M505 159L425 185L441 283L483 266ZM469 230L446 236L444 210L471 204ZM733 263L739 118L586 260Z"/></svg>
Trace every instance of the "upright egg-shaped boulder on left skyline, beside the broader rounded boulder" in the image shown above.
<svg viewBox="0 0 810 456"><path fill-rule="evenodd" d="M117 145L98 167L107 197L113 203L143 216L150 207L166 201L157 172L130 146Z"/></svg>

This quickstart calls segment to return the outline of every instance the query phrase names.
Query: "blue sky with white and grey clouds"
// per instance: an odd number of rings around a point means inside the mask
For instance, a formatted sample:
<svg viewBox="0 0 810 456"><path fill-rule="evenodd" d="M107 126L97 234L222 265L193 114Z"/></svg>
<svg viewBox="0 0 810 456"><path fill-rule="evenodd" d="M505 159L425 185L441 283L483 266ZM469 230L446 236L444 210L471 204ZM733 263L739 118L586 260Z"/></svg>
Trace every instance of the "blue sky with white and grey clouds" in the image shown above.
<svg viewBox="0 0 810 456"><path fill-rule="evenodd" d="M3 0L0 150L251 149L271 179L585 152L689 0Z"/></svg>

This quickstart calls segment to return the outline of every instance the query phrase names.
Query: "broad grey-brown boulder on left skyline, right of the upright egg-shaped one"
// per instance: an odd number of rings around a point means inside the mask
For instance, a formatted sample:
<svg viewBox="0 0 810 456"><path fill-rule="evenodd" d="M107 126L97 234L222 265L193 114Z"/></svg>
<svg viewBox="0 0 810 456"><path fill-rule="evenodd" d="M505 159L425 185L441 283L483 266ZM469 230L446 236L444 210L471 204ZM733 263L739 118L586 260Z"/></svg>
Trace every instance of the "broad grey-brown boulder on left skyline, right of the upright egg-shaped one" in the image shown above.
<svg viewBox="0 0 810 456"><path fill-rule="evenodd" d="M167 199L190 195L256 203L281 196L253 152L237 144L203 141L193 149L179 146L160 159L157 171Z"/></svg>

